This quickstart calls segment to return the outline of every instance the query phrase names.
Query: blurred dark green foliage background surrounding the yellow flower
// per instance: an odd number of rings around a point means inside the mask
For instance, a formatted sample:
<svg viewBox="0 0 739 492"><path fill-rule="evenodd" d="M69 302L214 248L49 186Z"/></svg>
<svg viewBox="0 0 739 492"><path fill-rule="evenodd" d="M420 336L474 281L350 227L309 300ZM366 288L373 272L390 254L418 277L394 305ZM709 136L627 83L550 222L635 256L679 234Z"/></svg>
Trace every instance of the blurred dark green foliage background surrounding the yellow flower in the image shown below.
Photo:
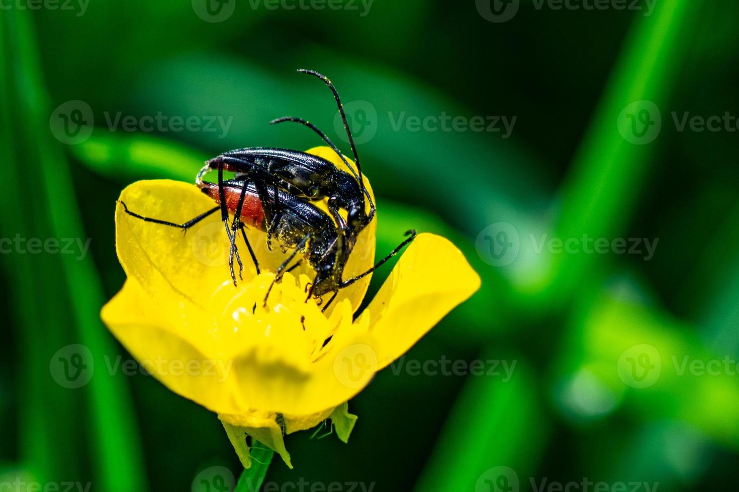
<svg viewBox="0 0 739 492"><path fill-rule="evenodd" d="M113 212L126 184L191 181L224 150L319 145L275 117L310 119L348 151L330 93L297 68L347 103L378 255L411 227L437 232L483 288L350 402L349 445L291 435L296 468L276 460L268 482L734 487L739 5L595 3L2 2L1 490L219 491L198 474L238 477L215 415L106 370L128 358L99 319L124 280ZM157 114L231 125L146 131ZM31 238L89 238L89 252L31 254ZM638 252L614 251L630 238ZM70 344L95 363L78 388L52 377ZM404 365L444 359L486 374Z"/></svg>

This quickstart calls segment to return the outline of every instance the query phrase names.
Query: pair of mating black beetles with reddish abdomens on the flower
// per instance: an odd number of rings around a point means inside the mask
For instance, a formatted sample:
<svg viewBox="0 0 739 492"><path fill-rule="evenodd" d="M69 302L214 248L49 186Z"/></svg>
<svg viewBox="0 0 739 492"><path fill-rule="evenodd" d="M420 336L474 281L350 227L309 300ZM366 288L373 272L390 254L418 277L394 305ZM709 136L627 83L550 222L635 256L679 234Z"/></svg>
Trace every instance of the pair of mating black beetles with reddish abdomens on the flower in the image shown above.
<svg viewBox="0 0 739 492"><path fill-rule="evenodd" d="M304 119L285 117L275 119L270 124L286 121L298 122L312 129L338 154L350 173L338 169L326 159L299 150L243 148L222 153L205 163L197 175L196 185L203 193L213 198L218 206L184 224L143 217L130 211L126 204L122 203L122 205L125 212L135 218L177 227L185 231L220 210L221 219L231 241L229 266L234 285L236 284L234 258L239 267L242 267L242 261L236 249L237 230L242 233L257 274L259 274L259 262L248 241L244 226L267 232L268 247L271 247L271 238L275 237L283 248L294 249L294 251L277 269L275 278L265 295L265 304L272 285L282 277L285 271L290 271L299 265L300 260L288 268L296 254L301 252L306 263L316 271L316 277L310 284L307 299L320 298L329 292L333 293L324 305L325 310L336 297L339 289L352 285L381 266L397 254L403 246L410 243L415 238L416 232L414 230L406 232L409 238L403 240L398 247L372 268L356 277L343 280L344 267L347 265L359 233L375 217L375 204L364 186L354 139L336 88L327 77L318 72L312 70L299 70L299 72L319 77L333 92L349 137L356 170L336 145L315 125ZM217 171L217 183L203 181L203 177L213 170ZM224 180L224 170L235 173L234 179ZM326 198L329 213L313 203ZM369 202L369 212L367 212L365 198ZM342 209L346 212L346 219L341 215ZM234 220L231 222L228 218L229 212L234 214ZM240 274L239 270L239 276Z"/></svg>

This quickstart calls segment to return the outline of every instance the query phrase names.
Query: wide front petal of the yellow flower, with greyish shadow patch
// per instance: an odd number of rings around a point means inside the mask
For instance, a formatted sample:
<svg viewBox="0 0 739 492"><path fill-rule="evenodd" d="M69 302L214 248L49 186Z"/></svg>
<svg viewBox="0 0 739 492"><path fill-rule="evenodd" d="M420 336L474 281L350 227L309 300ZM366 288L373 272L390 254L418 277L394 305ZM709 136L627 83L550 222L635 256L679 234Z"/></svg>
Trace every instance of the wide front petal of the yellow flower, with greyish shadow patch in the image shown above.
<svg viewBox="0 0 739 492"><path fill-rule="evenodd" d="M289 284L282 285L287 288ZM275 287L273 297L282 285ZM293 285L293 289L302 299L301 288ZM248 297L249 292L249 286L239 288L234 299ZM263 294L253 295L261 299ZM341 303L344 319L340 331L349 336L336 342L332 339L313 362L311 347L300 347L300 339L307 332L300 328L299 313L293 316L288 312L290 305L262 314L275 316L270 325L262 327L251 322L253 297L242 304L245 307L237 311L245 312L244 322L230 315L224 319L231 323L223 321L219 325L187 299L150 297L135 280L128 280L101 315L134 358L148 361L145 365L152 366L154 377L172 391L219 414L242 415L253 409L296 416L317 414L353 398L372 379L373 370L347 366L346 361L350 364L355 356L355 347L373 344L367 333L352 334L348 301ZM319 311L316 305L306 305L302 300L299 307L307 310L307 322L315 314L312 311ZM226 305L225 309L230 308ZM256 313L260 316L260 311ZM292 332L290 326L282 326L290 320L297 325ZM286 351L288 342L300 348ZM172 370L174 364L177 370ZM188 364L197 364L197 370L184 370Z"/></svg>

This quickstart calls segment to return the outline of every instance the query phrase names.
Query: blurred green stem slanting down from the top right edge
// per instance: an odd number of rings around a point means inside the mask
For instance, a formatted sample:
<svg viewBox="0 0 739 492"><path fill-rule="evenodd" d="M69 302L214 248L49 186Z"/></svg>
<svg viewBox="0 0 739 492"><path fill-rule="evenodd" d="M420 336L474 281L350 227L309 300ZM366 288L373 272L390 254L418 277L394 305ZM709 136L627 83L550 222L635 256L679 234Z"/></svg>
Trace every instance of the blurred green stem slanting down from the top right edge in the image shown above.
<svg viewBox="0 0 739 492"><path fill-rule="evenodd" d="M553 237L614 238L630 218L656 143L627 142L617 119L627 105L650 100L664 107L678 80L687 43L689 8L701 2L664 0L650 17L638 18L593 114L570 175L560 191L562 207ZM663 111L666 113L666 111ZM543 292L557 305L593 262L592 254L560 254L542 271Z"/></svg>

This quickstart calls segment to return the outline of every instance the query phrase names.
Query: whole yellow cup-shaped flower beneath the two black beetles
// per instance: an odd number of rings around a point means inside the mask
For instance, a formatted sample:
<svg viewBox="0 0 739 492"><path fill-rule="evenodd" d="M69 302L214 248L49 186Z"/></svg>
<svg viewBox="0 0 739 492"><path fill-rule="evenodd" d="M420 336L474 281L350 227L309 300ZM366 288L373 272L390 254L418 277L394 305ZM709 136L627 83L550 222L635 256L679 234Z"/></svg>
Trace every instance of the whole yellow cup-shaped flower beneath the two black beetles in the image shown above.
<svg viewBox="0 0 739 492"><path fill-rule="evenodd" d="M330 148L309 152L344 167ZM138 181L120 201L177 223L214 207L197 187L169 180ZM116 247L128 279L103 307L103 321L166 387L217 412L245 468L251 465L245 434L287 465L285 433L330 418L346 441L356 420L347 401L480 286L452 243L420 234L356 320L371 276L342 289L322 313L314 300L305 302L312 270L304 265L285 274L263 308L272 272L285 257L276 241L270 252L265 234L247 229L262 274L239 238L244 280L234 287L219 213L183 235L127 215L120 201ZM344 278L372 266L376 222L361 232Z"/></svg>

